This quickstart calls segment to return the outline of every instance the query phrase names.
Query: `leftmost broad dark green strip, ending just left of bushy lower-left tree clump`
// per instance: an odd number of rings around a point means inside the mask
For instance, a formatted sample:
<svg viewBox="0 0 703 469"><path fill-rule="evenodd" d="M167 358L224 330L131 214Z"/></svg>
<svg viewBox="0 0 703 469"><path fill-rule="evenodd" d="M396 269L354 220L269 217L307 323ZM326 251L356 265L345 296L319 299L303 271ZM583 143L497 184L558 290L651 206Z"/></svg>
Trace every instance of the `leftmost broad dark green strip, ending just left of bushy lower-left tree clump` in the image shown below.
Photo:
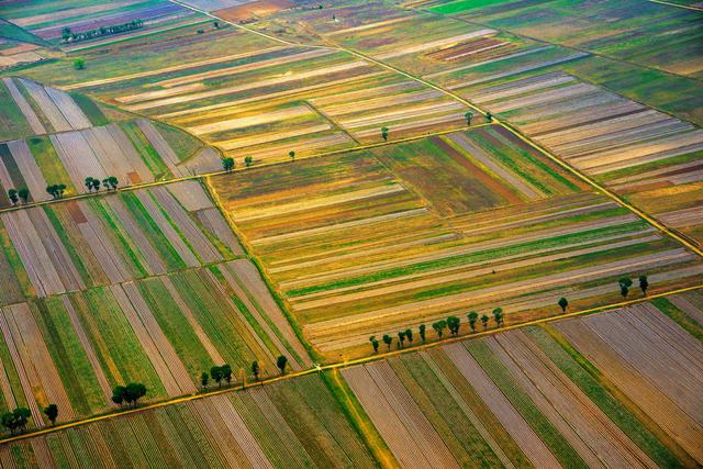
<svg viewBox="0 0 703 469"><path fill-rule="evenodd" d="M72 410L80 415L104 410L108 402L60 299L35 300L31 306Z"/></svg>

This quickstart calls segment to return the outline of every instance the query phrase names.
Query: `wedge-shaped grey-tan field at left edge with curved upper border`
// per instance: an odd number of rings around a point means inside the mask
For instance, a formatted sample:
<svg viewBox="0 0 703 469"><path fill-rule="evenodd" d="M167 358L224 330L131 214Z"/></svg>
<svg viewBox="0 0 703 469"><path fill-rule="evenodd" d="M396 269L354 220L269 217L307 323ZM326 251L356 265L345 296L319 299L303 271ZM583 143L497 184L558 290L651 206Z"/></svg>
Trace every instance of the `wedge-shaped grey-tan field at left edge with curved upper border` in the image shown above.
<svg viewBox="0 0 703 469"><path fill-rule="evenodd" d="M114 176L125 187L222 168L220 156L192 135L83 94L3 78L0 100L7 139L0 143L0 208L11 204L10 189L26 188L27 201L38 202L52 198L49 185L66 185L64 196L89 191L88 177Z"/></svg>

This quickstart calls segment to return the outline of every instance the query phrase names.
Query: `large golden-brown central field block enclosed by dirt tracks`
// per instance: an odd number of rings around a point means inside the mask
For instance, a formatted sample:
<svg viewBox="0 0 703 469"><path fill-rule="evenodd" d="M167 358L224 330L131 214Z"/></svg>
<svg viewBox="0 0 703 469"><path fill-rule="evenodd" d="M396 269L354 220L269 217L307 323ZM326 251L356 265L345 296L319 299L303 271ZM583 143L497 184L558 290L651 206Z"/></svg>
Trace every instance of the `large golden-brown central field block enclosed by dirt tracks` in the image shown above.
<svg viewBox="0 0 703 469"><path fill-rule="evenodd" d="M623 275L645 272L666 288L703 271L694 255L501 132L375 152L209 181L328 357L450 313L500 305L518 322L556 314L560 297L582 308L613 302Z"/></svg>

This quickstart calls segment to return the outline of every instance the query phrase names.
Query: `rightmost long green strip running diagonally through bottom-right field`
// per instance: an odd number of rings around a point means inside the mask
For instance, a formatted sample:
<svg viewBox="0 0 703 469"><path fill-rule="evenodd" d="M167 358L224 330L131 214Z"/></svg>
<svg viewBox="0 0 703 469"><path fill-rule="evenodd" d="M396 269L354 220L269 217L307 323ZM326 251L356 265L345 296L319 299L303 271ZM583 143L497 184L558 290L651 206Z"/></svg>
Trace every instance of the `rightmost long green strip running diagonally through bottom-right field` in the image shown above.
<svg viewBox="0 0 703 469"><path fill-rule="evenodd" d="M549 359L652 461L660 467L681 467L681 461L599 382L596 378L602 378L602 376L599 377L600 371L563 337L559 340L556 339L559 333L553 326L527 327L525 332ZM579 361L574 357L578 357Z"/></svg>

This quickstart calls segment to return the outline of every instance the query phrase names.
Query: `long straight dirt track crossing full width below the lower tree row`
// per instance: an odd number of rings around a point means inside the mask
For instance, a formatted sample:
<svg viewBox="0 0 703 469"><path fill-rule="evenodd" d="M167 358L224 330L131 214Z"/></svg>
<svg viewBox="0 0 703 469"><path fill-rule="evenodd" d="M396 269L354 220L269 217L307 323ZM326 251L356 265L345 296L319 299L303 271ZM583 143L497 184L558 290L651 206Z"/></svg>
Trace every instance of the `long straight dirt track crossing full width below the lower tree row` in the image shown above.
<svg viewBox="0 0 703 469"><path fill-rule="evenodd" d="M353 359L353 360L345 360L345 361L339 361L339 362L330 364L330 365L323 365L323 366L316 365L313 368L310 368L310 369L306 369L306 370L293 371L293 372L289 372L289 373L286 373L286 375L282 375L282 376L267 378L265 380L259 381L256 384L246 386L244 388L242 386L234 386L234 387L230 387L230 388L216 389L216 390L213 390L213 391L186 394L186 395L181 395L181 397L174 398L174 399L165 399L163 401L152 402L149 404L145 404L145 405L140 406L140 407L118 410L115 412L101 414L101 415L93 415L93 416L90 416L90 417L77 420L77 421L74 421L74 422L67 422L67 423L55 425L55 426L47 426L47 427L44 427L44 428L37 428L37 429L30 431L27 433L23 433L23 434L20 434L20 435L12 435L12 436L8 436L8 437L4 437L4 438L0 438L0 445L5 445L5 444L9 444L9 443L13 443L13 442L22 440L22 439L33 438L33 437L36 437L36 436L42 436L42 435L51 434L51 433L63 431L63 429L68 429L68 428L77 427L77 426L82 426L82 425L87 425L87 424L94 423L94 422L101 422L101 421L104 421L104 420L115 418L115 417L120 417L120 416L123 416L123 415L131 415L131 414L135 414L135 413L138 413L138 412L145 412L145 411L149 411L149 410L154 410L154 409L160 409L160 407L165 407L165 406L168 406L168 405L171 405L171 404L180 404L180 403L183 403L183 402L197 401L199 399L210 398L210 397L213 397L213 395L220 395L220 394L224 394L226 392L239 392L239 391L245 390L247 388L255 388L255 387L271 384L271 383L283 381L283 380L288 380L288 379L294 379L294 378L301 377L301 376L312 375L314 372L344 369L344 368L348 368L348 367L353 367L353 366L357 366L357 365L364 365L364 364L368 364L368 362L383 360L383 359L387 359L387 358L390 358L390 357L395 357L395 356L403 355L403 354L411 354L411 353L416 353L416 351L421 351L421 350L426 350L428 348L442 347L442 346L445 346L445 345L448 345L448 344L454 344L454 343L457 343L457 342L470 340L470 339L473 339L473 338L477 338L477 337L487 337L487 336L491 336L493 334L499 334L499 333L502 333L502 332L505 332L505 331L520 330L520 328L523 328L523 327L529 327L529 326L535 326L535 325L540 325L540 324L548 324L548 323L553 323L553 322L556 322L556 321L562 321L562 320L567 320L567 319L571 319L571 317L579 317L579 316L585 316L585 315L590 315L590 314L596 314L596 313L601 313L601 312L612 311L612 310L615 310L615 309L618 309L618 308L626 308L626 306L629 306L629 305L633 305L633 304L644 303L644 302L651 301L651 300L657 299L657 298L666 298L666 297L670 297L670 295L673 295L673 294L680 294L680 293L685 293L688 291L702 290L702 289L703 289L703 283L696 284L696 286L692 286L692 287L680 288L680 289L676 289L676 290L663 291L663 292L660 292L660 293L650 294L648 297L640 297L640 298L635 298L635 299L632 299L632 300L620 301L620 302L616 302L616 303L604 304L602 306L589 308L587 310L573 311L571 313L565 313L565 314L559 314L559 315L555 315L555 316L547 316L547 317L539 317L539 319L532 320L532 321L526 321L526 322L523 322L523 323L515 323L515 324L504 325L504 326L501 326L501 327L494 327L494 328L491 328L491 330L479 331L479 332L475 332L475 333L470 333L470 334L466 334L466 335L460 335L460 336L456 336L456 337L447 336L447 337L444 337L444 338L440 338L438 340L431 342L431 343L427 343L427 344L419 344L419 345L414 345L414 346L408 346L408 347L404 347L404 348L399 348L399 349L391 350L391 351L384 351L384 353L381 353L381 354L370 355L368 357L356 358L356 359Z"/></svg>

